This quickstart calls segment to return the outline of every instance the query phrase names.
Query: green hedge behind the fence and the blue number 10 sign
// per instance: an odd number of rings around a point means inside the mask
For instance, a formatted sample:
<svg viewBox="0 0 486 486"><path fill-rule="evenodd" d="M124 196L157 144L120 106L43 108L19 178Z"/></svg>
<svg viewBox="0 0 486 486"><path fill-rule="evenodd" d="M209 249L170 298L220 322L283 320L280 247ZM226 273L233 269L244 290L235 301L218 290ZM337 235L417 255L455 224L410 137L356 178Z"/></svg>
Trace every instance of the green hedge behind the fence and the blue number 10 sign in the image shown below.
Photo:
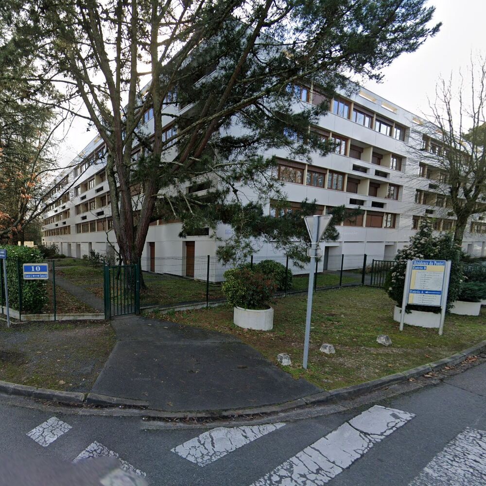
<svg viewBox="0 0 486 486"><path fill-rule="evenodd" d="M2 246L7 250L7 282L9 306L19 310L18 288L19 277L22 291L22 313L38 313L47 302L47 283L45 280L24 280L23 263L40 263L44 261L42 253L28 246ZM18 265L18 269L17 269Z"/></svg>

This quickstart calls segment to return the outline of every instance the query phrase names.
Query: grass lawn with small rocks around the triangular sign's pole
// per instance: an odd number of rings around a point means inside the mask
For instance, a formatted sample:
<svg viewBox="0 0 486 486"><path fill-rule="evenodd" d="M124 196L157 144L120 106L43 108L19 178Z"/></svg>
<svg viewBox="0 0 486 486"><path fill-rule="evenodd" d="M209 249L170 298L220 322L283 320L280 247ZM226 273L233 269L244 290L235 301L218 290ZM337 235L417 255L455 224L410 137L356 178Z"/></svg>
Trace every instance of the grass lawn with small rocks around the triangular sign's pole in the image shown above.
<svg viewBox="0 0 486 486"><path fill-rule="evenodd" d="M437 330L411 326L400 332L393 320L394 302L382 289L321 291L314 294L309 368L305 371L302 352L306 296L280 298L273 306L274 329L270 332L237 328L229 306L148 315L233 334L273 362L278 353L286 352L293 364L283 369L328 390L431 363L486 339L485 310L479 317L448 315L443 336ZM393 345L379 345L379 334L388 334ZM336 353L321 353L322 343L333 344Z"/></svg>

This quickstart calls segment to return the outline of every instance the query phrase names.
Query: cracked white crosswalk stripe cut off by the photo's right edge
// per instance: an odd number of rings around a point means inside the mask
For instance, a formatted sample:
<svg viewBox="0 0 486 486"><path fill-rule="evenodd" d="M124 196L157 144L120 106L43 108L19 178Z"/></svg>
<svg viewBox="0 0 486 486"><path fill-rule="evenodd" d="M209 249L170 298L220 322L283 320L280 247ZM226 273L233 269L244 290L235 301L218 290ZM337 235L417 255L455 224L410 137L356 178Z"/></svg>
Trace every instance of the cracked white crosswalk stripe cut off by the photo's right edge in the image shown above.
<svg viewBox="0 0 486 486"><path fill-rule="evenodd" d="M466 429L425 466L409 486L484 486L486 431Z"/></svg>

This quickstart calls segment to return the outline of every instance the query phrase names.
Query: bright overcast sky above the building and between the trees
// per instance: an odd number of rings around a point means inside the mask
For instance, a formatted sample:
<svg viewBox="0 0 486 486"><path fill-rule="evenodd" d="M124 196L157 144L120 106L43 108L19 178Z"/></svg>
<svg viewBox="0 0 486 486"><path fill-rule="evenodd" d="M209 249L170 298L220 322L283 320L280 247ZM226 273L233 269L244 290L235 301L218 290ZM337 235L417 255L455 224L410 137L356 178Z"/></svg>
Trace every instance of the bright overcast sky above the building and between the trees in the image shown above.
<svg viewBox="0 0 486 486"><path fill-rule="evenodd" d="M436 7L434 22L442 22L440 32L427 40L417 52L403 54L383 71L382 83L365 83L402 108L427 114L427 98L434 98L439 76L448 77L469 63L470 52L480 52L485 43L485 0L430 0ZM486 48L483 49L486 53ZM73 123L60 150L66 165L94 137L86 123Z"/></svg>

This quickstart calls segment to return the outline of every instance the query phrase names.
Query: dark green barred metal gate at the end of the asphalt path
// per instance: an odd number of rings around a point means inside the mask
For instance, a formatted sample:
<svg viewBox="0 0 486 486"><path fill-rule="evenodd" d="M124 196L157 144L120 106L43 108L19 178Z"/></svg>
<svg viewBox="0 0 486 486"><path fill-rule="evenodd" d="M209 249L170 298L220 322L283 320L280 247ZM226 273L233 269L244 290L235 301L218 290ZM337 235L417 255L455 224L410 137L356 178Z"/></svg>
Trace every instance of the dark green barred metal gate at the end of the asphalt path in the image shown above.
<svg viewBox="0 0 486 486"><path fill-rule="evenodd" d="M104 316L140 312L139 265L105 265L104 267Z"/></svg>

